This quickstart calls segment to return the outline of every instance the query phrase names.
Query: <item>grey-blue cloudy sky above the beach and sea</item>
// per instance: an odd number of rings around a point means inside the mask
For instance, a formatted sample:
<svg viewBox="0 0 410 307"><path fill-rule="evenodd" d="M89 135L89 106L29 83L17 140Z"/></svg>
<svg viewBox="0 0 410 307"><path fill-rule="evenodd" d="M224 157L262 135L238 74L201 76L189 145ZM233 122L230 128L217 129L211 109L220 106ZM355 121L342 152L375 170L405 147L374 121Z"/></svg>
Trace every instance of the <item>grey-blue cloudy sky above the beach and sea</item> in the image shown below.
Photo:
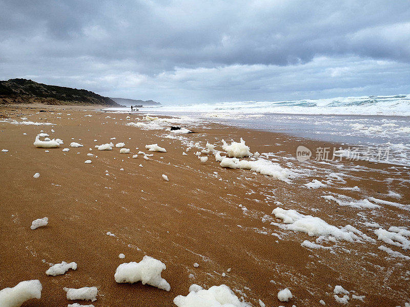
<svg viewBox="0 0 410 307"><path fill-rule="evenodd" d="M0 1L0 79L161 103L410 94L410 2Z"/></svg>

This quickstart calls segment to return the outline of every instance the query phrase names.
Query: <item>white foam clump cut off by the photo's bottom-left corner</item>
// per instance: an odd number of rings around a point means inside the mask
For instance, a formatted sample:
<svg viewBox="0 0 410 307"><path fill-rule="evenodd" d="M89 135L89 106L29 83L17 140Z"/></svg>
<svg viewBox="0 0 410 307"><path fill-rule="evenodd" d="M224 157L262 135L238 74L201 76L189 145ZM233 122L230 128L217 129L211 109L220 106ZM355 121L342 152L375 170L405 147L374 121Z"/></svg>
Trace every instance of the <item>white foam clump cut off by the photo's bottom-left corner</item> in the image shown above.
<svg viewBox="0 0 410 307"><path fill-rule="evenodd" d="M0 291L0 306L19 307L29 299L41 298L42 290L42 283L38 279L21 281L13 288Z"/></svg>

